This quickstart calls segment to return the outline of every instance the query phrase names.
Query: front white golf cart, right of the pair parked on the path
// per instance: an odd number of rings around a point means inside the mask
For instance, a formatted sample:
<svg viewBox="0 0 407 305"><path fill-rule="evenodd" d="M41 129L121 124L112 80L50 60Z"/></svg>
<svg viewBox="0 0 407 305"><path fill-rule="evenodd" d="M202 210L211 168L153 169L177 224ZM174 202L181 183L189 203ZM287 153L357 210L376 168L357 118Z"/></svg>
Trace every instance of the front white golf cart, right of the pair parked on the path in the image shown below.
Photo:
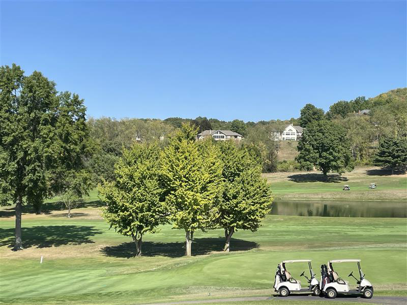
<svg viewBox="0 0 407 305"><path fill-rule="evenodd" d="M356 289L350 289L349 282L339 278L338 273L335 272L333 263L358 263L359 277L358 280L353 276L353 271L348 277L353 277L359 285ZM341 294L362 294L364 298L371 298L373 296L373 286L365 279L365 275L360 268L360 259L339 259L331 260L327 265L321 266L321 283L319 289L323 295L328 298L335 298L338 293Z"/></svg>

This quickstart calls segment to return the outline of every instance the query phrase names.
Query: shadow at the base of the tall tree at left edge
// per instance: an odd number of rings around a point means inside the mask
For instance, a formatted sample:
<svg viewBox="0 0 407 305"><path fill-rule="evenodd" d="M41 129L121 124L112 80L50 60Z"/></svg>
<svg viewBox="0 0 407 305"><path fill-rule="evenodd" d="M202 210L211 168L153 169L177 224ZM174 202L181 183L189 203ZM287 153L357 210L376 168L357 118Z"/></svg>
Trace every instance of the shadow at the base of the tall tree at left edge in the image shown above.
<svg viewBox="0 0 407 305"><path fill-rule="evenodd" d="M23 247L59 247L94 243L91 236L103 231L88 226L35 226L21 228ZM14 246L14 229L0 229L0 246Z"/></svg>

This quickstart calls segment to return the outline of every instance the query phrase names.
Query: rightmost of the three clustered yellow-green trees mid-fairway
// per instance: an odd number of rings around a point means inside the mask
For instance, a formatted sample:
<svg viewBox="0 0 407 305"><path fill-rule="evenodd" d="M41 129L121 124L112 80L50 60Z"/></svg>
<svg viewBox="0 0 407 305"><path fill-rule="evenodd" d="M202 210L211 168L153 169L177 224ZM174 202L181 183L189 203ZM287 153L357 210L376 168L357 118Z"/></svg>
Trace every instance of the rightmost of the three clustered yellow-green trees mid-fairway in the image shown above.
<svg viewBox="0 0 407 305"><path fill-rule="evenodd" d="M271 210L272 196L261 166L245 148L234 141L220 141L224 188L217 224L225 230L223 251L229 252L230 238L237 230L256 231Z"/></svg>

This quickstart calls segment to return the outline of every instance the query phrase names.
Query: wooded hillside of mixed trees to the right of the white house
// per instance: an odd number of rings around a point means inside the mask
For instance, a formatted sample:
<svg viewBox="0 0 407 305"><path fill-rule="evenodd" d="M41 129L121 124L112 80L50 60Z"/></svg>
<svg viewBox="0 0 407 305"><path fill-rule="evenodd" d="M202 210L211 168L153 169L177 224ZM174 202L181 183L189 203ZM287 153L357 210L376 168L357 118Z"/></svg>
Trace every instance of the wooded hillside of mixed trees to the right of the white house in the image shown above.
<svg viewBox="0 0 407 305"><path fill-rule="evenodd" d="M300 169L316 168L326 176L352 170L355 163L392 173L407 167L407 88L339 101L327 113L307 104L299 121L304 128L296 157Z"/></svg>

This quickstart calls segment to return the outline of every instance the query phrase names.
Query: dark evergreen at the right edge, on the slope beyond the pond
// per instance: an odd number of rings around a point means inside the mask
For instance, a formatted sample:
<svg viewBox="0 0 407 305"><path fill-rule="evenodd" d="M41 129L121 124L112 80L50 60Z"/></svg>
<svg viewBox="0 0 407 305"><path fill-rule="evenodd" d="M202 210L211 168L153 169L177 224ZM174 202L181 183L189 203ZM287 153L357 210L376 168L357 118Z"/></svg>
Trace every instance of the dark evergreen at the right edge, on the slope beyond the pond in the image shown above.
<svg viewBox="0 0 407 305"><path fill-rule="evenodd" d="M383 137L373 158L375 165L405 170L407 167L407 138Z"/></svg>

